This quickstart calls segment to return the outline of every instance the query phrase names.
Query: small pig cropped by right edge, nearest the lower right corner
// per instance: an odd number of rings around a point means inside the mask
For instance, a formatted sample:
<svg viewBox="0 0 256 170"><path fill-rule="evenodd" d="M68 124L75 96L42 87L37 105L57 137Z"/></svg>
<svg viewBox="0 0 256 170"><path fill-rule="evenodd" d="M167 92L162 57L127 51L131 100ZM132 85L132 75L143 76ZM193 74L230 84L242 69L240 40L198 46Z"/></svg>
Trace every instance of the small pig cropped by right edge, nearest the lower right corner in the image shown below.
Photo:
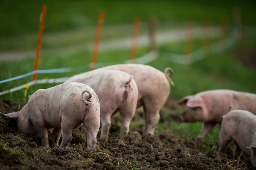
<svg viewBox="0 0 256 170"><path fill-rule="evenodd" d="M235 142L233 158L237 160L236 165L239 166L240 157L245 153L251 156L253 167L256 167L256 116L253 113L231 109L223 116L217 153L219 161L232 139Z"/></svg>

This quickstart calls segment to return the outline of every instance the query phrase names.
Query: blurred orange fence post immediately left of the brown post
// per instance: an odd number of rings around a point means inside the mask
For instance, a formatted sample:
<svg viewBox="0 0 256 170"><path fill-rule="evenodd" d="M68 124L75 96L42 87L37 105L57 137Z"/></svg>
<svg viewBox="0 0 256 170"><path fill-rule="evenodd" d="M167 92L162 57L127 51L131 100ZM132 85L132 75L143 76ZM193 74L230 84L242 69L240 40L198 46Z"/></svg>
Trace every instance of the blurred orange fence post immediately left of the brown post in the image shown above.
<svg viewBox="0 0 256 170"><path fill-rule="evenodd" d="M140 30L140 18L135 17L134 24L133 24L133 31L132 31L130 61L135 59L137 55L139 30Z"/></svg>

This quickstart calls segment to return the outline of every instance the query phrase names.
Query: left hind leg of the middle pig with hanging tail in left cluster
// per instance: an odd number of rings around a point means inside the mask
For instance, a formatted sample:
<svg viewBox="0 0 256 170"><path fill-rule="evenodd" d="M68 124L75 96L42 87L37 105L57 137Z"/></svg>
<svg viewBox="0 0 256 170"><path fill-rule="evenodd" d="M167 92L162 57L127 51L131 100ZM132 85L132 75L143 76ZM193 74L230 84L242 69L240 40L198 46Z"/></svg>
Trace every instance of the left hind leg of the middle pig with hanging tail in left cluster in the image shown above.
<svg viewBox="0 0 256 170"><path fill-rule="evenodd" d="M108 133L111 125L111 114L110 113L102 113L102 129L100 133L100 140L107 142L108 141Z"/></svg>

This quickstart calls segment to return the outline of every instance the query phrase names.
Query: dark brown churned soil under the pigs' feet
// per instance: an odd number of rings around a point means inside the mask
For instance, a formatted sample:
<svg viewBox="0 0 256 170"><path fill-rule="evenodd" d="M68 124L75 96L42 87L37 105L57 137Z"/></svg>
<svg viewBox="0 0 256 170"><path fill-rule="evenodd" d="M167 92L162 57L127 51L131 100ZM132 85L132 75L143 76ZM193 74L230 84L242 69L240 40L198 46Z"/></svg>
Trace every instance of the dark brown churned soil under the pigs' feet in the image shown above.
<svg viewBox="0 0 256 170"><path fill-rule="evenodd" d="M0 112L19 111L24 103L10 100L0 101ZM19 108L20 106L20 108ZM169 117L172 106L167 102L161 111L161 119ZM215 159L218 141L204 142L202 139L186 139L173 136L166 128L154 136L142 135L142 127L129 132L120 144L120 118L114 117L108 142L97 142L96 150L87 150L86 137L79 130L73 131L68 147L48 148L41 146L37 137L29 140L17 132L14 119L0 116L0 169L31 170L236 170L232 161L232 148L227 147L224 160ZM133 121L142 118L137 113ZM171 123L171 122L170 122ZM16 126L15 126L16 125ZM50 135L50 134L49 134ZM99 136L99 134L98 134ZM61 140L60 140L61 142ZM49 137L51 144L51 138ZM243 156L240 169L249 170L250 160Z"/></svg>

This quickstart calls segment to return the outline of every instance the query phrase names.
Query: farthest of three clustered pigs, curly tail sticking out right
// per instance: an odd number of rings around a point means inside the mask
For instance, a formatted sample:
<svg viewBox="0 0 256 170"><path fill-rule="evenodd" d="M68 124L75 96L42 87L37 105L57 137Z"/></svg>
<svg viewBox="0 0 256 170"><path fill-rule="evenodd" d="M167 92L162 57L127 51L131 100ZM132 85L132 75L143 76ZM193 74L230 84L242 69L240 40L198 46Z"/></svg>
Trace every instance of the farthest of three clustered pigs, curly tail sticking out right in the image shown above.
<svg viewBox="0 0 256 170"><path fill-rule="evenodd" d="M159 111L170 94L172 68L165 68L164 73L154 67L143 64L117 64L88 71L90 72L118 70L133 75L138 87L137 107L143 107L145 125L143 134L153 135L160 119ZM170 83L170 84L169 84Z"/></svg>

